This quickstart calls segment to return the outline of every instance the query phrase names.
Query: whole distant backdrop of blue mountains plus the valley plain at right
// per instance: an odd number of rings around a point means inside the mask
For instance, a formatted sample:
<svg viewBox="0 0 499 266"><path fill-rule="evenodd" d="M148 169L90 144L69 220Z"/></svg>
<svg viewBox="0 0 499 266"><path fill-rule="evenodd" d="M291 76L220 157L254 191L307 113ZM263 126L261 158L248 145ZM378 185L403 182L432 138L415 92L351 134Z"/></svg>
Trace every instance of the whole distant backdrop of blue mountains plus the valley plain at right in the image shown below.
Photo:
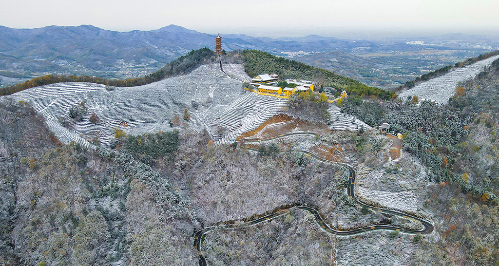
<svg viewBox="0 0 499 266"><path fill-rule="evenodd" d="M144 76L190 50L213 49L215 36L173 24L150 31L127 32L92 25L33 29L0 26L0 87L48 73L103 78ZM484 42L484 36L464 34L397 35L374 40L318 35L221 36L227 51L263 50L382 88L398 87L427 71L477 56L490 51L491 45L499 45L494 38L485 38ZM424 44L408 44L415 40Z"/></svg>

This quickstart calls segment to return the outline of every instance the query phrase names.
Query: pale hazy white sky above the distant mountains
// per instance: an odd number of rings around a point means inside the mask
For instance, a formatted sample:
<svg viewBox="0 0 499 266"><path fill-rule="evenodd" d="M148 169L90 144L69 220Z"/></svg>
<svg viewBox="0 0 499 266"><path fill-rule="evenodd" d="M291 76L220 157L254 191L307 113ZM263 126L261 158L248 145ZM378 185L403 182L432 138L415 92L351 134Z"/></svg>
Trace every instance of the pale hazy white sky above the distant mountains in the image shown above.
<svg viewBox="0 0 499 266"><path fill-rule="evenodd" d="M0 25L92 24L129 31L177 24L208 33L294 29L452 32L499 29L499 0L2 0Z"/></svg>

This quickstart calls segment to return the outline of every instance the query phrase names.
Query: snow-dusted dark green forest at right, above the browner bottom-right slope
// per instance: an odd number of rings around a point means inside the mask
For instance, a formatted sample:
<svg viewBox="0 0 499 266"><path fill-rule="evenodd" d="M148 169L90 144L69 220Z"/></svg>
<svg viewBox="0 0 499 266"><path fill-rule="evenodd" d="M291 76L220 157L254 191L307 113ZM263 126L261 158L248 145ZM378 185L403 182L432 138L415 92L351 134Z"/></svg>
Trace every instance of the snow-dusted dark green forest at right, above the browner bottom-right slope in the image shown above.
<svg viewBox="0 0 499 266"><path fill-rule="evenodd" d="M447 105L417 99L404 102L362 101L351 97L342 105L371 126L382 121L406 135L403 148L432 170L436 182L459 184L464 193L484 200L499 195L496 131L499 60L475 79L462 84Z"/></svg>

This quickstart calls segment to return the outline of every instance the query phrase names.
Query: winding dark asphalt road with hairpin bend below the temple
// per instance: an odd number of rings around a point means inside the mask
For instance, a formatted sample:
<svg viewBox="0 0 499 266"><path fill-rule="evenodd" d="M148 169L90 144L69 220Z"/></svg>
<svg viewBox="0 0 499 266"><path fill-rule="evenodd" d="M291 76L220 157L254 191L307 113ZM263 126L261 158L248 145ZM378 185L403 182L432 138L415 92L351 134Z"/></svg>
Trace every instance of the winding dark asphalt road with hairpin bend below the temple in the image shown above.
<svg viewBox="0 0 499 266"><path fill-rule="evenodd" d="M289 136L289 135L297 135L297 134L317 135L317 134L313 134L313 133L299 132L299 133L290 133L290 134L280 135L280 136L276 136L276 137L272 137L272 138L268 138L268 139L251 140L251 142L268 141L268 140L273 140L273 139L282 138L282 137ZM247 148L247 149L256 151L255 149L252 149L252 148ZM307 212L311 213L315 217L315 222L317 223L317 225L323 231L325 231L325 232L327 232L329 234L338 235L338 236L351 236L351 235L356 235L356 234L364 233L364 232L367 232L367 231L374 231L374 230L391 230L391 231L404 232L404 233L407 233L407 234L423 234L423 235L430 234L430 233L433 232L433 230L434 230L433 225L430 222L426 221L426 220L423 220L421 218L418 218L418 217L415 217L415 216L412 216L412 215L409 215L409 214L405 214L405 213L402 213L402 212L397 212L397 211L393 211L393 210L387 210L387 209L381 209L381 208L377 208L377 207L372 207L372 206L369 206L369 205L366 205L366 204L360 202L357 199L357 197L355 197L354 186L355 186L356 173L355 173L355 170L353 169L352 166L350 166L348 164L345 164L345 163L338 163L338 162L333 162L333 161L328 161L328 160L322 159L322 158L320 158L320 157L318 157L318 156L310 153L309 151L305 151L305 150L293 150L293 151L285 151L285 152L302 152L302 153L305 153L306 155L308 155L308 156L310 156L310 157L312 157L312 158L314 158L316 160L319 160L321 162L341 164L341 165L347 166L348 167L348 172L349 172L348 185L347 185L347 194L348 194L349 198L351 198L357 204L359 204L361 206L365 206L365 207L370 208L370 209L373 209L376 212L381 212L381 213L396 215L396 216L400 216L400 217L403 217L403 218L408 218L408 219L413 219L413 220L419 221L423 225L424 229L422 229L422 230L411 230L411 229L405 229L405 228L395 227L395 226L389 226L389 225L373 225L373 226L370 226L370 227L358 228L358 229L353 229L353 230L348 230L348 231L338 231L338 230L331 229L329 227L329 225L324 221L324 219L322 219L320 213L317 210L315 210L313 208L310 208L310 207L306 207L306 206L297 206L297 207L292 207L292 208L289 208L289 209L286 209L286 210L281 210L281 211L278 211L278 212L275 212L275 213L263 216L261 218L252 220L250 222L247 222L247 223L244 223L244 224L241 224L241 225L233 225L233 224L231 224L231 225L214 226L214 227L205 228L205 229L202 229L202 230L196 232L196 234L194 235L194 248L197 249L197 251L198 251L199 265L200 266L207 266L208 265L207 262L206 262L206 258L203 255L203 252L201 251L201 239L208 232L218 231L218 230L225 230L225 229L231 229L231 228L242 228L242 227L254 226L254 225L257 225L259 223L266 222L266 221L269 221L269 220L274 219L276 217L279 217L281 215L284 215L284 214L286 214L286 213L288 213L288 212L290 212L290 211L292 211L294 209L303 210L303 211L307 211Z"/></svg>

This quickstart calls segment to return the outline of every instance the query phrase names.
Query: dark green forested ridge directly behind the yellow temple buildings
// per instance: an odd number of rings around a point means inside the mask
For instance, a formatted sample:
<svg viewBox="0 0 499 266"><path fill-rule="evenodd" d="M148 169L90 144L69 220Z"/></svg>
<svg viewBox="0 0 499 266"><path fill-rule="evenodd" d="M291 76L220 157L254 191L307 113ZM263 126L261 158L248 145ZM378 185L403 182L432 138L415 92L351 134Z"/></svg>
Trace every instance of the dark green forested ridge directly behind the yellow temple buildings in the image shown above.
<svg viewBox="0 0 499 266"><path fill-rule="evenodd" d="M337 90L346 90L354 95L374 95L382 99L391 99L394 95L380 88L369 87L354 79L337 75L331 71L316 68L301 62L277 57L258 50L244 50L244 66L246 72L254 77L260 73L277 73L282 78L298 78L313 80L323 86L331 86Z"/></svg>

